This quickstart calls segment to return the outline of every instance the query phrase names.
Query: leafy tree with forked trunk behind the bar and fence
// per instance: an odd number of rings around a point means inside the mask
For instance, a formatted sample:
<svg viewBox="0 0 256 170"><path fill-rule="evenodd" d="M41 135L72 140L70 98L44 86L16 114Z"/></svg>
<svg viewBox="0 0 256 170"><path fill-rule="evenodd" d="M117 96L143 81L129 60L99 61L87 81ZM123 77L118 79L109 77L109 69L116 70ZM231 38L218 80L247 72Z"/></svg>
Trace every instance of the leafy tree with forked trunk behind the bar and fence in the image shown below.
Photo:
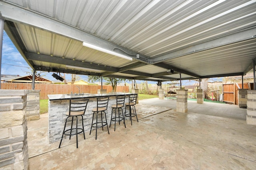
<svg viewBox="0 0 256 170"><path fill-rule="evenodd" d="M112 86L113 92L116 92L116 86L118 83L120 83L122 81L125 82L125 80L126 80L123 78L112 78L112 77L102 77L102 79L104 79L106 81L107 85ZM101 77L100 76L89 76L88 81L91 83L94 83L96 81L101 81Z"/></svg>

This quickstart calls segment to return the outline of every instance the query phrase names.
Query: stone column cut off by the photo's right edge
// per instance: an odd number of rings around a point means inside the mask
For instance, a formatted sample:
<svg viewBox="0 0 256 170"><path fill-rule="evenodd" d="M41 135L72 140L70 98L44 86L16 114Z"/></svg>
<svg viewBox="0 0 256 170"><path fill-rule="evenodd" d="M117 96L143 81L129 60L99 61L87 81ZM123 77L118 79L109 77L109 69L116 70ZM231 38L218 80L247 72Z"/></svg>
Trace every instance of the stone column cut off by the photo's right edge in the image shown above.
<svg viewBox="0 0 256 170"><path fill-rule="evenodd" d="M256 125L256 90L247 90L246 123Z"/></svg>

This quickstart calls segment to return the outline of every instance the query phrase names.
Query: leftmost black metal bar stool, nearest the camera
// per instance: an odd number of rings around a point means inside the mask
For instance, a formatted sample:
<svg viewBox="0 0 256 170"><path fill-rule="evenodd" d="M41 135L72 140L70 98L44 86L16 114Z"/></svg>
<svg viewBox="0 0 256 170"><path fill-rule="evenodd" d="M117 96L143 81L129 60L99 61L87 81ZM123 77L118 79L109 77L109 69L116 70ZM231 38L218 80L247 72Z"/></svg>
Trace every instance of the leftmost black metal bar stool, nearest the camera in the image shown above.
<svg viewBox="0 0 256 170"><path fill-rule="evenodd" d="M68 113L66 113L66 121L65 121L65 125L64 125L64 129L63 129L63 133L62 133L62 137L60 140L60 145L63 139L64 135L68 135L69 139L71 138L72 135L76 135L76 148L78 148L78 134L80 133L84 133L84 119L83 119L83 115L85 113L87 104L88 104L89 99L70 99L69 100L69 111ZM78 116L82 117L82 128L78 128ZM71 122L71 128L70 129L66 129L66 124L67 124L67 120L69 117L72 117L72 122ZM73 128L73 120L74 117L76 117L76 127ZM78 131L78 129L80 131ZM74 131L72 133L72 131ZM84 139L85 139L85 134L84 134ZM59 145L59 148L60 148Z"/></svg>

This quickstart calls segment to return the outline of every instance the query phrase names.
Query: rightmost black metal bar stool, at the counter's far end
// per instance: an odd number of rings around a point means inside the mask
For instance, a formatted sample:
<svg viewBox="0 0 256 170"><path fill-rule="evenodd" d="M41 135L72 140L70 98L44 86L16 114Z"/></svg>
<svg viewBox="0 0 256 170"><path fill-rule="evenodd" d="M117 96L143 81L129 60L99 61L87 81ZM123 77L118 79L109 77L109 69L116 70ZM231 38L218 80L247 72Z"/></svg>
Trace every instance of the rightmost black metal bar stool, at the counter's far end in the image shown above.
<svg viewBox="0 0 256 170"><path fill-rule="evenodd" d="M125 119L125 117L130 117L131 125L132 125L132 117L136 116L137 121L138 121L138 117L137 117L137 113L136 113L136 109L135 109L137 96L138 96L138 94L131 94L129 96L129 102L125 103L124 119ZM126 113L126 107L129 107L129 113ZM133 111L133 113L132 113L132 111Z"/></svg>

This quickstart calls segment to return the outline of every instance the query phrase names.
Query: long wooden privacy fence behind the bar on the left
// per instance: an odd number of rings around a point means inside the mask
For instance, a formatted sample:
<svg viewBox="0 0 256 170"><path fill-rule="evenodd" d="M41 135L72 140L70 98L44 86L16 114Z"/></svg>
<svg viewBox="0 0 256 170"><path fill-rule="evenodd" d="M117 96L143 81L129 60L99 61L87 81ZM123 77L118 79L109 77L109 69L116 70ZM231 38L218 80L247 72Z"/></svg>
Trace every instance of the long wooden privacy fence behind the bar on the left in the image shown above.
<svg viewBox="0 0 256 170"><path fill-rule="evenodd" d="M77 85L77 84L44 84L36 83L35 90L40 90L40 99L48 99L48 94L70 94L71 92L78 93L78 87L80 93L92 93L97 94L98 89L101 89L100 85ZM107 89L107 93L112 92L112 86L102 86L103 89ZM8 90L31 90L31 83L1 83L1 89ZM116 92L129 92L129 86L116 86Z"/></svg>

